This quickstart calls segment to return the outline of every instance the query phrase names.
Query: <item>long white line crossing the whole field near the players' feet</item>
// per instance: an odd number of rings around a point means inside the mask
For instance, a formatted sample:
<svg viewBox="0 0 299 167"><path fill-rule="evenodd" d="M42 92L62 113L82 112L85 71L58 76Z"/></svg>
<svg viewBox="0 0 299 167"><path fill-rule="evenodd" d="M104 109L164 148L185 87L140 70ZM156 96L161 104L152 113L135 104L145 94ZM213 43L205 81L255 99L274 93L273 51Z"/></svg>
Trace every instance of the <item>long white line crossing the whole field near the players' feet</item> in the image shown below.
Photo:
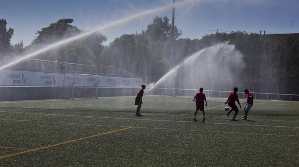
<svg viewBox="0 0 299 167"><path fill-rule="evenodd" d="M91 117L91 118L104 118L104 119L120 119L120 120L141 120L141 121L160 121L160 122L184 122L193 123L193 121L179 121L179 120L152 120L152 119L142 119L142 118L118 118L118 117L97 117L97 116L87 116L87 115L63 115L63 114L46 114L46 113L33 113L33 112L7 112L0 111L4 113L18 113L18 114L35 114L35 115L53 115L53 116L65 116L65 117ZM263 127L277 127L277 128L299 128L297 126L272 126L272 125L250 125L250 124L237 124L237 123L216 123L216 122L206 122L210 124L222 124L222 125L242 125L242 126L263 126Z"/></svg>

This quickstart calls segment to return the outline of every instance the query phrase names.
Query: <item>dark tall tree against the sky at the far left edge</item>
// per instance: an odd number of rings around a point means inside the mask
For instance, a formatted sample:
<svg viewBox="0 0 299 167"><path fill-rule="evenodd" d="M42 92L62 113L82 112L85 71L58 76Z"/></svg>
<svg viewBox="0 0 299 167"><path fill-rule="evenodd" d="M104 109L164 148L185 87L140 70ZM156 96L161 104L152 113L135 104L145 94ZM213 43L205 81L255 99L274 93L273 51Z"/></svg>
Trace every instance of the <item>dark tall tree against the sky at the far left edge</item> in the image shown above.
<svg viewBox="0 0 299 167"><path fill-rule="evenodd" d="M13 36L13 29L6 29L7 22L5 19L0 19L0 53L10 50L10 39Z"/></svg>

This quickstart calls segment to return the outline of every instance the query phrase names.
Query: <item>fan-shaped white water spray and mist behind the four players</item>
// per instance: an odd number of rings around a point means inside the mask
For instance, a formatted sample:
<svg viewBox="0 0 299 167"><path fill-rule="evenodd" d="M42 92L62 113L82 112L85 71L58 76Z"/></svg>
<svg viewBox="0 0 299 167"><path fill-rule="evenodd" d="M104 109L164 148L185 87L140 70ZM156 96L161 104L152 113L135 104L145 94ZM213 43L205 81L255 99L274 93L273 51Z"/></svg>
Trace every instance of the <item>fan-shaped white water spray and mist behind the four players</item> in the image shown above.
<svg viewBox="0 0 299 167"><path fill-rule="evenodd" d="M215 44L186 58L167 72L154 87L231 90L238 85L244 68L243 55L228 42Z"/></svg>

